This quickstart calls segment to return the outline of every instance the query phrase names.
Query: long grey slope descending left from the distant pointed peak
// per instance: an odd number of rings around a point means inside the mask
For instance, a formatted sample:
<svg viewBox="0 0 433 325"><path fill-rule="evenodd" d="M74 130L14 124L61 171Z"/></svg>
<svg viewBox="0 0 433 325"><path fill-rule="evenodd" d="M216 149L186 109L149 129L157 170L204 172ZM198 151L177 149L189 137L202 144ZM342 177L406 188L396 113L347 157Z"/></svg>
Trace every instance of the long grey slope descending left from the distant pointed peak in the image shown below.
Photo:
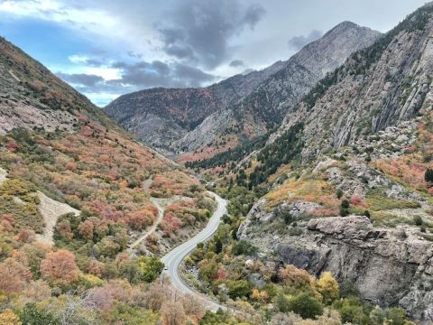
<svg viewBox="0 0 433 325"><path fill-rule="evenodd" d="M342 65L353 52L371 45L380 35L355 23L338 24L287 60L281 70L264 80L250 95L225 111L209 116L177 146L196 151L203 145L215 147L228 135L235 135L238 143L244 143L246 139L267 133L280 125L288 107L297 104L318 80Z"/></svg>

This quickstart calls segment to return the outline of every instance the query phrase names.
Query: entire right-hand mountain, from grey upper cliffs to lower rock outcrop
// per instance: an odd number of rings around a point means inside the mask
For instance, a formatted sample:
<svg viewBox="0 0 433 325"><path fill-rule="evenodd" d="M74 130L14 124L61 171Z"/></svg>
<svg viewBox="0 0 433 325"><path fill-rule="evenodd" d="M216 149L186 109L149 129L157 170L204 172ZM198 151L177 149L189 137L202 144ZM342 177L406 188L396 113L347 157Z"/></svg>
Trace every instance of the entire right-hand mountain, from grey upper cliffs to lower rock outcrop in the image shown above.
<svg viewBox="0 0 433 325"><path fill-rule="evenodd" d="M366 302L433 320L433 5L285 105L227 174L261 195L237 237ZM354 293L352 293L354 294ZM347 320L350 321L350 320Z"/></svg>

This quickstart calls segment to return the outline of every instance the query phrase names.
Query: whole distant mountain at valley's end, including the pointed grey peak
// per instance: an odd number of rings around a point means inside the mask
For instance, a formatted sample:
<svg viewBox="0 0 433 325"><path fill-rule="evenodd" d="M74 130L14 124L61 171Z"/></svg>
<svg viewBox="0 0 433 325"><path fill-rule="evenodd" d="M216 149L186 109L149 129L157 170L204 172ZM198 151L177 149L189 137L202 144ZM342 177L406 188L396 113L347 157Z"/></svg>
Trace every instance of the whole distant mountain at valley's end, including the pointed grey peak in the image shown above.
<svg viewBox="0 0 433 325"><path fill-rule="evenodd" d="M282 103L295 104L327 72L378 37L379 32L355 23L340 23L290 60L265 70L208 88L157 88L124 95L106 112L144 143L188 153L183 161L197 160L279 125ZM191 157L191 152L196 154Z"/></svg>

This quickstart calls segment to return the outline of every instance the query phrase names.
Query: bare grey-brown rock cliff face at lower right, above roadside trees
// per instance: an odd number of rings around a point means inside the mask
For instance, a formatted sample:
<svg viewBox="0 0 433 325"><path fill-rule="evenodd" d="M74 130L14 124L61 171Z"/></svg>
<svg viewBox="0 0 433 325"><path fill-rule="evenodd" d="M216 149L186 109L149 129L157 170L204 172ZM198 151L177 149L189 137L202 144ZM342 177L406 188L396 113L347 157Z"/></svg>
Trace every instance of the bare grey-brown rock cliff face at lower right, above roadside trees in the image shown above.
<svg viewBox="0 0 433 325"><path fill-rule="evenodd" d="M433 320L433 246L419 230L373 228L368 218L350 216L300 221L300 236L263 236L247 226L248 219L261 216L260 207L252 209L238 236L260 245L263 255L310 274L331 271L340 282L354 283L366 301L400 305L414 318Z"/></svg>

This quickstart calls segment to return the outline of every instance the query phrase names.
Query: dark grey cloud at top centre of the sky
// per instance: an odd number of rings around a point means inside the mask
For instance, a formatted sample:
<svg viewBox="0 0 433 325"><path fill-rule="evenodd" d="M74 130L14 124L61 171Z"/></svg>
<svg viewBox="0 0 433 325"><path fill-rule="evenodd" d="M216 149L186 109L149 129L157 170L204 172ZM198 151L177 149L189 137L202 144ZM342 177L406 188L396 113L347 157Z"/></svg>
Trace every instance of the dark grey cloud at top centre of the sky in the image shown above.
<svg viewBox="0 0 433 325"><path fill-rule="evenodd" d="M226 60L230 38L253 29L264 14L261 5L238 0L186 0L170 11L170 24L156 28L167 54L212 69Z"/></svg>

